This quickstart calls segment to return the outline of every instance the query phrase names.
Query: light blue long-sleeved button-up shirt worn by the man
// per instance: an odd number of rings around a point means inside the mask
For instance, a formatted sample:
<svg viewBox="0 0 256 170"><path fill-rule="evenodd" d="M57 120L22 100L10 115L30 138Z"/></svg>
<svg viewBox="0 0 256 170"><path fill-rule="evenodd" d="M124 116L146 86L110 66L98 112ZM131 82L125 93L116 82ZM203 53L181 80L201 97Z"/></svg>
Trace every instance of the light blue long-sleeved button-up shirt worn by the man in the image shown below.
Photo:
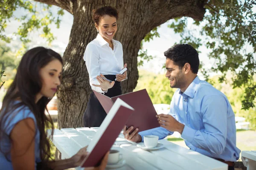
<svg viewBox="0 0 256 170"><path fill-rule="evenodd" d="M208 82L196 77L184 93L177 89L169 114L185 125L181 137L190 149L225 161L239 159L235 114L227 97ZM157 127L139 134L163 139L172 133Z"/></svg>

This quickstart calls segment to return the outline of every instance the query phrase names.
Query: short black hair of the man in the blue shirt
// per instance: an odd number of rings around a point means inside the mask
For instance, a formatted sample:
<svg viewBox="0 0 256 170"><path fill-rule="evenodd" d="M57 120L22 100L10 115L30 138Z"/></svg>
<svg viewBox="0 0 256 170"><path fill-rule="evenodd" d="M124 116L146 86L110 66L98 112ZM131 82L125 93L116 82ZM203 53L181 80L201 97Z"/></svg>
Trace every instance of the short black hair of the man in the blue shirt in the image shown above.
<svg viewBox="0 0 256 170"><path fill-rule="evenodd" d="M179 68L186 63L190 64L191 71L198 73L199 58L198 52L189 44L177 44L164 52L166 58L171 59Z"/></svg>

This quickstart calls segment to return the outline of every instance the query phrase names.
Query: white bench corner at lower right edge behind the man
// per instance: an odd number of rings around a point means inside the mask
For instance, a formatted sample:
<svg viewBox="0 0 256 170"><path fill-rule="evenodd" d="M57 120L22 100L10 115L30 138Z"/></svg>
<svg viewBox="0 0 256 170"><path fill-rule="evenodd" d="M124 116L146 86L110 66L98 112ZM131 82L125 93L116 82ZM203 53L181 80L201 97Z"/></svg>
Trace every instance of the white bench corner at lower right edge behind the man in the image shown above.
<svg viewBox="0 0 256 170"><path fill-rule="evenodd" d="M241 157L247 170L256 170L256 151L242 151Z"/></svg>

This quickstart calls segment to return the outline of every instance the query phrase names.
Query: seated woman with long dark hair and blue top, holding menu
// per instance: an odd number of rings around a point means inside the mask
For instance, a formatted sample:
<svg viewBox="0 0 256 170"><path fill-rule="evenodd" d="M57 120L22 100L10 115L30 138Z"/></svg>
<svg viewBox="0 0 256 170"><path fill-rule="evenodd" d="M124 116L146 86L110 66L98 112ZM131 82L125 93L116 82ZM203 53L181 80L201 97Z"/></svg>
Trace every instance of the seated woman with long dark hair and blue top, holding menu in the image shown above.
<svg viewBox="0 0 256 170"><path fill-rule="evenodd" d="M44 111L61 83L61 71L62 58L51 49L36 47L23 55L0 110L1 169L63 170L78 167L87 156L84 147L70 159L50 158L45 129L53 132L53 122ZM103 170L107 161L108 153L99 167L88 169Z"/></svg>

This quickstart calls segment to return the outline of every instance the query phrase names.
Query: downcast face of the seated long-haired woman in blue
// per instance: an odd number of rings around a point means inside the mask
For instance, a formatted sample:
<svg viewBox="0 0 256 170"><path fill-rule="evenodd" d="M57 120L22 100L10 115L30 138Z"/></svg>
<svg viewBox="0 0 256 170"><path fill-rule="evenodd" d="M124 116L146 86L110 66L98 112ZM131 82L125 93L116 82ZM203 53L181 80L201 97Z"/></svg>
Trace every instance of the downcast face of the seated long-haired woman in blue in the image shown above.
<svg viewBox="0 0 256 170"><path fill-rule="evenodd" d="M53 59L47 65L40 69L42 88L39 95L52 98L61 84L60 76L62 64L58 59Z"/></svg>

